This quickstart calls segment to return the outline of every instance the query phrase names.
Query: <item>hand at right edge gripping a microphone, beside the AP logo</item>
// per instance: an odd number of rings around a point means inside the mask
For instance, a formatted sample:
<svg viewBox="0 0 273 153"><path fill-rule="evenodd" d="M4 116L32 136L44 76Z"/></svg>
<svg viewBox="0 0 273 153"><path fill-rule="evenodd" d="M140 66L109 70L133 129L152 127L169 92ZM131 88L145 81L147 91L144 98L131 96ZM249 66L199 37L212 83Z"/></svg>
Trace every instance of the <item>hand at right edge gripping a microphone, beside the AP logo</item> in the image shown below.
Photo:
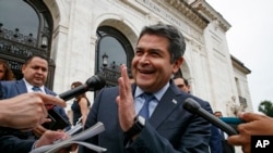
<svg viewBox="0 0 273 153"><path fill-rule="evenodd" d="M241 145L244 153L251 152L251 136L273 136L272 117L257 113L239 113L238 117L245 123L238 125L238 135L229 136L227 141L233 145Z"/></svg>

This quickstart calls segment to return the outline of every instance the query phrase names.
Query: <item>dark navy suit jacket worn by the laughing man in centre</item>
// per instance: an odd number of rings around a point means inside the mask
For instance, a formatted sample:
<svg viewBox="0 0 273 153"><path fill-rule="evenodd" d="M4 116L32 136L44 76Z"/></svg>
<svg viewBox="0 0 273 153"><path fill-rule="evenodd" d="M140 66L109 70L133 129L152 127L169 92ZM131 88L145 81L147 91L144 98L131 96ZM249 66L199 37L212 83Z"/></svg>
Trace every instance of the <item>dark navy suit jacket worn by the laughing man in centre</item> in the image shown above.
<svg viewBox="0 0 273 153"><path fill-rule="evenodd" d="M135 90L135 85L133 85ZM202 117L183 110L187 98L193 98L200 105L212 112L207 102L181 92L170 81L154 113L146 122L138 138L128 146L123 145L123 131L119 125L116 97L118 87L105 88L96 97L88 114L85 128L102 122L105 131L86 142L106 148L107 153L207 153L211 124ZM133 91L134 92L134 91ZM91 150L80 148L80 152Z"/></svg>

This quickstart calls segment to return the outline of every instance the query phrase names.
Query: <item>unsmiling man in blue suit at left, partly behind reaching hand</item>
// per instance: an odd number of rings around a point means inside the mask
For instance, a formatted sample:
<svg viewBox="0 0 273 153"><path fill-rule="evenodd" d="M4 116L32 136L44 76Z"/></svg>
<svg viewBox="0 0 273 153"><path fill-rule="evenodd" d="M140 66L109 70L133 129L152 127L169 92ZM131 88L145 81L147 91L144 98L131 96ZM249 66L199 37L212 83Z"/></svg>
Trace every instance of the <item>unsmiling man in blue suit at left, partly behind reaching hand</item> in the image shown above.
<svg viewBox="0 0 273 153"><path fill-rule="evenodd" d="M34 91L35 88L38 88L39 92L56 95L55 92L44 86L48 75L48 61L44 56L33 55L27 58L22 66L22 73L24 78L21 80L0 82L0 99L13 98L26 92L36 92ZM62 107L58 105L46 106L48 110L57 112L69 123L69 117ZM7 129L0 130L4 131L1 132L0 138L0 150L2 152L28 153L35 148L34 142L43 136L47 129L40 125L31 131L23 132Z"/></svg>

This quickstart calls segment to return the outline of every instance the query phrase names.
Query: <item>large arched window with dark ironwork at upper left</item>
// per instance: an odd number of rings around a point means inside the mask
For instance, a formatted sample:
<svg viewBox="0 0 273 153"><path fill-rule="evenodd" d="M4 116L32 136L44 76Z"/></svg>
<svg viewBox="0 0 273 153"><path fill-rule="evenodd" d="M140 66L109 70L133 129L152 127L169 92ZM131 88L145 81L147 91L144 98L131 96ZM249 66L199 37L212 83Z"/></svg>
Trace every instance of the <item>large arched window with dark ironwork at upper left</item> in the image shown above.
<svg viewBox="0 0 273 153"><path fill-rule="evenodd" d="M0 1L0 58L7 60L21 79L25 59L40 54L49 61L46 86L52 88L55 62L50 60L52 17L43 1Z"/></svg>

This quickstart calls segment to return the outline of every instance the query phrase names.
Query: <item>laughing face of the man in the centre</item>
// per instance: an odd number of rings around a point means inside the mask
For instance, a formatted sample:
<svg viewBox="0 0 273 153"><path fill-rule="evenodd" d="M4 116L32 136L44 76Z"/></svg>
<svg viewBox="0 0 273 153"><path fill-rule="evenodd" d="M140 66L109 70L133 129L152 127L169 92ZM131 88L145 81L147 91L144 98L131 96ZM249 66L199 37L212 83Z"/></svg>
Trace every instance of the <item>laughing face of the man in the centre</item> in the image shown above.
<svg viewBox="0 0 273 153"><path fill-rule="evenodd" d="M132 73L136 85L146 92L156 92L179 69L182 58L170 64L169 41L156 35L143 35L136 44L132 60Z"/></svg>

